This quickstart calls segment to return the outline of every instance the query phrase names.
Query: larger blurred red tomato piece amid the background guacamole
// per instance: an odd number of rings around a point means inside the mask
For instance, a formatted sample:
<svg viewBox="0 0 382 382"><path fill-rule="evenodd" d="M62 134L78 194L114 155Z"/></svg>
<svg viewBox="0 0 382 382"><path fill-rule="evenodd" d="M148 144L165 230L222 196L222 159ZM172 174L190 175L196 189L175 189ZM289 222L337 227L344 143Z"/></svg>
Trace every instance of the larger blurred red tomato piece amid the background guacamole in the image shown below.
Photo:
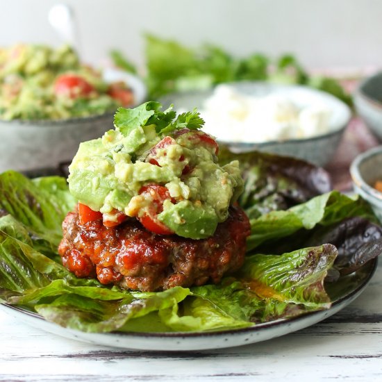
<svg viewBox="0 0 382 382"><path fill-rule="evenodd" d="M62 74L54 84L56 95L72 99L88 97L93 91L94 87L88 81L75 74Z"/></svg>

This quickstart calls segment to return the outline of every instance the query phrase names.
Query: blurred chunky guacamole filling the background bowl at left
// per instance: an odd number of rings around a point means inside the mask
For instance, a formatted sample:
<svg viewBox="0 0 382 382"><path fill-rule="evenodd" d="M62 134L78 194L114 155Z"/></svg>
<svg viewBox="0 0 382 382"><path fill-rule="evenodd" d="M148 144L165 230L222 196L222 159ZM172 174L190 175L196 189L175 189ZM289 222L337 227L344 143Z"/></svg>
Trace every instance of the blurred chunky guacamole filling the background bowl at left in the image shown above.
<svg viewBox="0 0 382 382"><path fill-rule="evenodd" d="M67 119L131 106L123 83L110 85L65 45L0 49L0 119Z"/></svg>

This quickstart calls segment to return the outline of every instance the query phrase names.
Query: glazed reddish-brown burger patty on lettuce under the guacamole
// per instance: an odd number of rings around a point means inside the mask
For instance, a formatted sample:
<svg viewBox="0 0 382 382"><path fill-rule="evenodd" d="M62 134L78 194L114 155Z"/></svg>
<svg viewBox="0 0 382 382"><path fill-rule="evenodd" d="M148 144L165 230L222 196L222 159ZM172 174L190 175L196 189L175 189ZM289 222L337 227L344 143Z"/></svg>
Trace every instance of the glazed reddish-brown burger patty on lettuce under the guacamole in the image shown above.
<svg viewBox="0 0 382 382"><path fill-rule="evenodd" d="M215 234L203 240L156 235L137 219L107 228L102 221L81 225L78 211L67 214L58 252L78 277L95 277L120 288L156 291L177 285L217 283L244 262L250 233L244 211L233 206Z"/></svg>

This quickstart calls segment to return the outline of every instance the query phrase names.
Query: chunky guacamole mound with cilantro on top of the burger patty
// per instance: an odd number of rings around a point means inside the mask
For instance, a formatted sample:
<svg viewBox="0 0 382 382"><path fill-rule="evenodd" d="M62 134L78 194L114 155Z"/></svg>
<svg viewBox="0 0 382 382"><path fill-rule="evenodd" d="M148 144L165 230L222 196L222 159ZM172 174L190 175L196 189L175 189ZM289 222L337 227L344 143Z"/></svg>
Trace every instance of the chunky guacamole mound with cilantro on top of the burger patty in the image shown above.
<svg viewBox="0 0 382 382"><path fill-rule="evenodd" d="M119 108L114 130L81 143L69 167L70 192L108 226L137 217L154 233L208 238L242 192L239 163L219 165L199 113L161 107Z"/></svg>

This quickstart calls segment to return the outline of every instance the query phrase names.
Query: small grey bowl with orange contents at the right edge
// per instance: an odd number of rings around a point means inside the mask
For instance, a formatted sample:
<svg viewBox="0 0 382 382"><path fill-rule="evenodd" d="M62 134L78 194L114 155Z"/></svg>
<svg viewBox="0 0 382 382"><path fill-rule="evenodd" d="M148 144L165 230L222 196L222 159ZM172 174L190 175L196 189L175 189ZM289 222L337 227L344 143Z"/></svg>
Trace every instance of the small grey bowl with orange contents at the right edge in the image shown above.
<svg viewBox="0 0 382 382"><path fill-rule="evenodd" d="M369 202L382 222L382 192L372 186L376 181L382 181L382 146L357 156L351 163L350 174L354 191Z"/></svg>

